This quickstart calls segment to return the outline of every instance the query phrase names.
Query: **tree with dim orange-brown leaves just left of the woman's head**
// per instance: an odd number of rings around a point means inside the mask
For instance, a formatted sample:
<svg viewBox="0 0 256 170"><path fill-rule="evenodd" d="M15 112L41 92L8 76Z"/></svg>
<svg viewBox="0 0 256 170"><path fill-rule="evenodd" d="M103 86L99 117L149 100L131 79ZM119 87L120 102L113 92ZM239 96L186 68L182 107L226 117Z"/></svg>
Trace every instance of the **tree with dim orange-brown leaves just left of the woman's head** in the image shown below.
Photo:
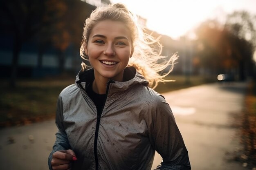
<svg viewBox="0 0 256 170"><path fill-rule="evenodd" d="M40 32L40 42L50 43L57 50L59 72L62 73L67 47L72 45L74 51L79 51L85 19L96 7L81 0L47 0L46 6L45 20L50 24Z"/></svg>

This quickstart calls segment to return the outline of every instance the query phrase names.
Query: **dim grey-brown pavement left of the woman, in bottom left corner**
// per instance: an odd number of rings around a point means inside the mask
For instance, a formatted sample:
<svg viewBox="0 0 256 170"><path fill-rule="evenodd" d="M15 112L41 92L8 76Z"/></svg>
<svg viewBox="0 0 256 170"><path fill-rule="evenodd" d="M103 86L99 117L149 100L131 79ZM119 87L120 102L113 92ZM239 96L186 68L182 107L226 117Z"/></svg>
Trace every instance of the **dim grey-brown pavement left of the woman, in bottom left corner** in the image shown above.
<svg viewBox="0 0 256 170"><path fill-rule="evenodd" d="M0 130L1 170L49 170L55 120Z"/></svg>

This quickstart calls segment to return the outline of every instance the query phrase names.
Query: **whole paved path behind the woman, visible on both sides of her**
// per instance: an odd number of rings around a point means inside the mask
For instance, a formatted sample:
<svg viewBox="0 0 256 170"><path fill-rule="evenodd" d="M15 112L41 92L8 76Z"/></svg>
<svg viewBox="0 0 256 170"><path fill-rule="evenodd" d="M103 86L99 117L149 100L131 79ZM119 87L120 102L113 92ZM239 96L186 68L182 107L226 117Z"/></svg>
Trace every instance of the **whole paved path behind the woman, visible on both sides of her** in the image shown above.
<svg viewBox="0 0 256 170"><path fill-rule="evenodd" d="M240 114L245 83L209 84L164 96L170 104L191 160L192 170L245 170L225 160L239 146L232 121ZM48 170L55 140L54 120L0 130L1 170ZM161 162L155 156L153 168Z"/></svg>

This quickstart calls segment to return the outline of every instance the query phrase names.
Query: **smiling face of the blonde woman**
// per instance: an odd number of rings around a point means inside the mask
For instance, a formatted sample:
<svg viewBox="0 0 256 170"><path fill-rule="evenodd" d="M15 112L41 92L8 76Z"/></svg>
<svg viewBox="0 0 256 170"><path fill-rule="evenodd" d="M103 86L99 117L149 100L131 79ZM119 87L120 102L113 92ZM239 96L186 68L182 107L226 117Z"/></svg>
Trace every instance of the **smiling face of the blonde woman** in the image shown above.
<svg viewBox="0 0 256 170"><path fill-rule="evenodd" d="M94 68L95 79L107 78L121 82L133 53L130 31L122 22L100 21L89 35L85 53Z"/></svg>

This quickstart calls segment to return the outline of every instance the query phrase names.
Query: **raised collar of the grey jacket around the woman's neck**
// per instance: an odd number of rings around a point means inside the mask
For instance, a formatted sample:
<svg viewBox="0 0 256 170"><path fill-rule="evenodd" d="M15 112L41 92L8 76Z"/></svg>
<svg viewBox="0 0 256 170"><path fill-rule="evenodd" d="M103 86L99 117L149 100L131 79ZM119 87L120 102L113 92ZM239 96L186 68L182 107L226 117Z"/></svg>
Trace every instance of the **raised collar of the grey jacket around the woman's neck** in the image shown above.
<svg viewBox="0 0 256 170"><path fill-rule="evenodd" d="M93 68L85 71L80 70L78 75L76 75L76 85L79 87L82 86L84 89L86 82L92 82L92 80L94 80ZM108 83L112 84L111 93L124 91L135 84L148 86L148 81L134 67L127 67L124 70L124 82L117 82L110 79Z"/></svg>

